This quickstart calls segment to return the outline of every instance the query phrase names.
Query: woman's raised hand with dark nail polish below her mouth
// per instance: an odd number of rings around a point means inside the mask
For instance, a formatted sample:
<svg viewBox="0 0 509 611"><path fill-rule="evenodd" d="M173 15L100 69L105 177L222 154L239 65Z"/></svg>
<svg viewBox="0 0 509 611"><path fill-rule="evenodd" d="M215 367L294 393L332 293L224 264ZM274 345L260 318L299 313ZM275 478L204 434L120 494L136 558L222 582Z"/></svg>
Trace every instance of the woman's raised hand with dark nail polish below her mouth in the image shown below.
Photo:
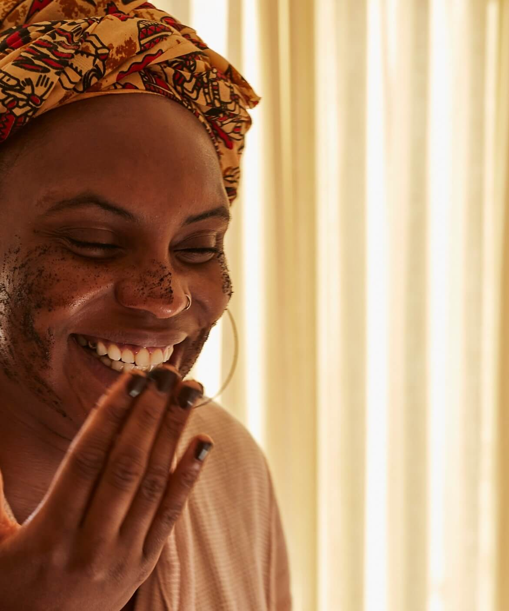
<svg viewBox="0 0 509 611"><path fill-rule="evenodd" d="M13 523L0 506L2 611L120 611L152 573L203 467L197 444L212 442L194 437L170 472L190 404L202 396L175 372L120 375L31 517ZM177 404L183 393L187 409Z"/></svg>

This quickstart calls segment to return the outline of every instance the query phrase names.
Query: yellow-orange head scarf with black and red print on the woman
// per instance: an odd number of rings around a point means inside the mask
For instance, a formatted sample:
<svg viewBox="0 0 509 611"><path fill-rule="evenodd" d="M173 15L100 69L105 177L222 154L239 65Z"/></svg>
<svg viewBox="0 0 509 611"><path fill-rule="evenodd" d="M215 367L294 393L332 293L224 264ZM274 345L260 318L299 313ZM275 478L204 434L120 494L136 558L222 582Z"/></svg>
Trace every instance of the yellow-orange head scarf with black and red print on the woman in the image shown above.
<svg viewBox="0 0 509 611"><path fill-rule="evenodd" d="M260 98L194 29L142 0L0 1L0 143L62 104L133 92L164 95L200 120L231 204L247 108Z"/></svg>

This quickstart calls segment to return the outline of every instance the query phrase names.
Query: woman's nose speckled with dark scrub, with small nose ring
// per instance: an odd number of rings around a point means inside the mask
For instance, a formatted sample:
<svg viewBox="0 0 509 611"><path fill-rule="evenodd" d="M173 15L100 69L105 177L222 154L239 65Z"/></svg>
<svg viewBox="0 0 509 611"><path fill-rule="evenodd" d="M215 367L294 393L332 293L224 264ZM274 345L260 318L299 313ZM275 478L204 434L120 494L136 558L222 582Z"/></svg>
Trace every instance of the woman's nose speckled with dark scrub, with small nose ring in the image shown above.
<svg viewBox="0 0 509 611"><path fill-rule="evenodd" d="M189 290L167 269L131 270L115 285L115 298L123 307L144 310L156 318L171 318L186 309Z"/></svg>

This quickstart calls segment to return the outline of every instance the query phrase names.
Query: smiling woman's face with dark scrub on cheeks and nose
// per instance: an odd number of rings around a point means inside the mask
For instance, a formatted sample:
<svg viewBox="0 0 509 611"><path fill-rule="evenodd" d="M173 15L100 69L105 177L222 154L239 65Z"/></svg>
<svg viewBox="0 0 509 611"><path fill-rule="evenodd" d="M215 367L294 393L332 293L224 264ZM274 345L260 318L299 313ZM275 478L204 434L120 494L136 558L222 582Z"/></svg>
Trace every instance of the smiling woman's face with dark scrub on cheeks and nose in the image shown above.
<svg viewBox="0 0 509 611"><path fill-rule="evenodd" d="M79 335L178 343L185 376L227 307L221 170L191 112L134 93L48 112L3 155L0 409L71 439L119 375Z"/></svg>

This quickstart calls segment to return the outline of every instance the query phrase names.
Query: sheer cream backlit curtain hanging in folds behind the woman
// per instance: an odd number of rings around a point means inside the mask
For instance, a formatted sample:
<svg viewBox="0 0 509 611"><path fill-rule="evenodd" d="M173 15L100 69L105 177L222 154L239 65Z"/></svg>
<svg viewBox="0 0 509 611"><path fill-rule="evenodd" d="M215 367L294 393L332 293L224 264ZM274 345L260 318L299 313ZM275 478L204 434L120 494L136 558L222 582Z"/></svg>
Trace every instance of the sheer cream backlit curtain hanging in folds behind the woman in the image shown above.
<svg viewBox="0 0 509 611"><path fill-rule="evenodd" d="M509 609L508 2L156 4L262 96L217 400L268 456L295 611ZM233 356L224 316L209 396Z"/></svg>

